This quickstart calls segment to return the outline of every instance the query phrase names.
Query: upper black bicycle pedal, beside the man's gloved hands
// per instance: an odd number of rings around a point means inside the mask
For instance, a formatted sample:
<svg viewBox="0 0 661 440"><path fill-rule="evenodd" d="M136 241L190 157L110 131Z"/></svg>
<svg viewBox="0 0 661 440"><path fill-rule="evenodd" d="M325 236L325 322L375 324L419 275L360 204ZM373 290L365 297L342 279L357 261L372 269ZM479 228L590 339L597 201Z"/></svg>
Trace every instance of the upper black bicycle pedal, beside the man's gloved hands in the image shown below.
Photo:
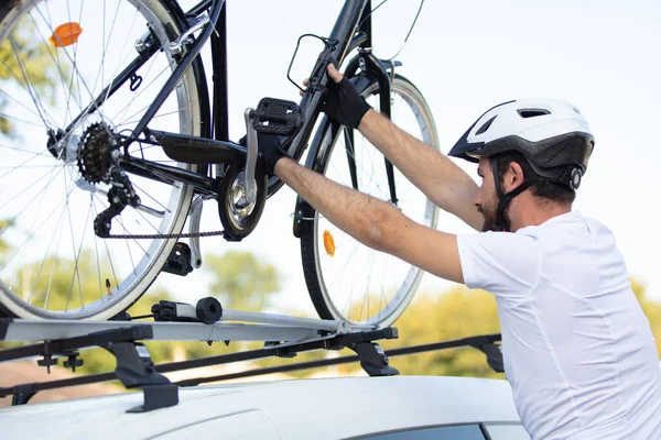
<svg viewBox="0 0 661 440"><path fill-rule="evenodd" d="M252 128L259 133L291 136L303 124L303 113L293 101L262 98L252 110Z"/></svg>

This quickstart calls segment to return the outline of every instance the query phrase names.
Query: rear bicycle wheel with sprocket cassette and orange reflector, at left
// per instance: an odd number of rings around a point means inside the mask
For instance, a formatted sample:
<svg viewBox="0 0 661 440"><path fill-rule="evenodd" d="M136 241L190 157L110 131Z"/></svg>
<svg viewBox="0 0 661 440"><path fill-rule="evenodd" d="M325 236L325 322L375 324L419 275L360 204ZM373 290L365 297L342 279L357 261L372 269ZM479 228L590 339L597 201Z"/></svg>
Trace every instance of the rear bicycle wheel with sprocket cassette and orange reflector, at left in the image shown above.
<svg viewBox="0 0 661 440"><path fill-rule="evenodd" d="M95 127L130 133L174 69L169 44L180 34L183 14L172 11L161 0L25 0L0 10L0 304L6 315L108 319L134 302L161 271L175 240L95 234L94 219L108 208L111 185L89 178L98 166L89 157L104 147L89 140ZM137 41L149 32L162 50L66 131L137 58ZM150 128L197 135L199 120L198 86L188 69ZM88 155L80 153L83 145ZM129 152L196 170L160 147L134 143ZM111 233L180 232L192 188L129 177L142 206L117 216Z"/></svg>

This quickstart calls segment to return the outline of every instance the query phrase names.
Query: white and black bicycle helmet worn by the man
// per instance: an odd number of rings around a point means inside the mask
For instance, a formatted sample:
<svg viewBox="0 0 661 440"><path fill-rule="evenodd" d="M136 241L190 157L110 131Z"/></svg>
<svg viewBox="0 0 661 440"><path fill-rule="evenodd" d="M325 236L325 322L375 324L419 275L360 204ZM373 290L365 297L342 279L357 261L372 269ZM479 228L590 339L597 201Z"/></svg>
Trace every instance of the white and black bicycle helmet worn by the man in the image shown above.
<svg viewBox="0 0 661 440"><path fill-rule="evenodd" d="M518 151L540 176L576 189L594 144L589 124L576 106L556 99L524 98L488 110L448 154L478 162L480 157Z"/></svg>

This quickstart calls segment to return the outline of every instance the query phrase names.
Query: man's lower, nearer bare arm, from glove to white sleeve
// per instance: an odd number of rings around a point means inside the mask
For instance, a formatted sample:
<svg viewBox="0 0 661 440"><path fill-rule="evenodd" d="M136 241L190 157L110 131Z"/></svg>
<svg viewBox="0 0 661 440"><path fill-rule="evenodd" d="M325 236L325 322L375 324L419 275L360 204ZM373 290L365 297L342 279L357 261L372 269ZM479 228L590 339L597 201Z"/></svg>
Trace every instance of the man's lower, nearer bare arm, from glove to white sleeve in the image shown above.
<svg viewBox="0 0 661 440"><path fill-rule="evenodd" d="M333 224L362 244L445 279L463 283L455 235L423 227L390 204L338 185L290 158L275 174Z"/></svg>

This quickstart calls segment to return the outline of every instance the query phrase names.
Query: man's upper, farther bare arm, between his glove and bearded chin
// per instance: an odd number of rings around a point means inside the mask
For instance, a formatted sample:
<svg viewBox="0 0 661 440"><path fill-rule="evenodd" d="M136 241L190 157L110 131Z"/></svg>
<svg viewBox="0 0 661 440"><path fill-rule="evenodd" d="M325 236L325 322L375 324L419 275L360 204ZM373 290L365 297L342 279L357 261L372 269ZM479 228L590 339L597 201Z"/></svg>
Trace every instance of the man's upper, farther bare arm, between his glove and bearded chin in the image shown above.
<svg viewBox="0 0 661 440"><path fill-rule="evenodd" d="M481 229L483 218L473 205L477 185L455 163L375 110L365 114L358 129L436 206Z"/></svg>

